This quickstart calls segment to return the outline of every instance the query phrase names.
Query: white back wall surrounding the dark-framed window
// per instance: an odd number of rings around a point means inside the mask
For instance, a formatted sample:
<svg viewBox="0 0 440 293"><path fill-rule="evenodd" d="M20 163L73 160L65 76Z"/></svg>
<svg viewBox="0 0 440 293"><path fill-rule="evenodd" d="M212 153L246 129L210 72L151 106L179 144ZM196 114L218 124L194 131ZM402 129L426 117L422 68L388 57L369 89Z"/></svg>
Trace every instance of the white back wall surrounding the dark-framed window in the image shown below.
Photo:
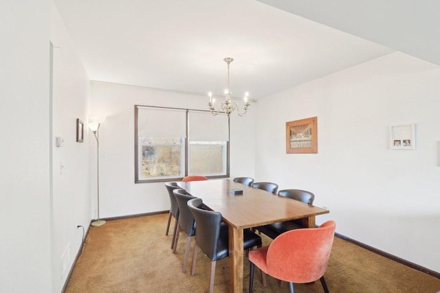
<svg viewBox="0 0 440 293"><path fill-rule="evenodd" d="M141 86L92 82L91 115L107 119L100 127L100 217L169 209L164 183L135 184L134 105L208 108L208 97ZM231 117L230 175L254 176L254 115ZM212 117L215 119L215 117ZM167 127L157 125L157 127ZM96 209L92 218L96 217Z"/></svg>

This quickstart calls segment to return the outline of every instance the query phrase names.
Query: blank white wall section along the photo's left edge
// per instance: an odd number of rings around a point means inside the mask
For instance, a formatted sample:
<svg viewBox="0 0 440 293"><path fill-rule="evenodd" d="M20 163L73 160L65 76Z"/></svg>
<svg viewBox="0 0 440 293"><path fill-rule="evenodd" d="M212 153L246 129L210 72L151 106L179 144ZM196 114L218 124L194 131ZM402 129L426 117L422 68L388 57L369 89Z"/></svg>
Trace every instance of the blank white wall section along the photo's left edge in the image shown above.
<svg viewBox="0 0 440 293"><path fill-rule="evenodd" d="M0 6L0 290L52 292L50 1Z"/></svg>

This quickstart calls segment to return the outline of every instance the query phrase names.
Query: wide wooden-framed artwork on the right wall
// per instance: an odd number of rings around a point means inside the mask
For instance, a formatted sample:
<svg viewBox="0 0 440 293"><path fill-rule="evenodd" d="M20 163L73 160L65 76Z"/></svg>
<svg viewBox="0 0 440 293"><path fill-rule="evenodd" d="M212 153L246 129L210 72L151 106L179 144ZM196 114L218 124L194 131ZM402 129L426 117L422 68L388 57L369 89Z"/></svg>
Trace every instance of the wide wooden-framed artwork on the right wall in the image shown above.
<svg viewBox="0 0 440 293"><path fill-rule="evenodd" d="M318 117L286 122L286 154L318 153Z"/></svg>

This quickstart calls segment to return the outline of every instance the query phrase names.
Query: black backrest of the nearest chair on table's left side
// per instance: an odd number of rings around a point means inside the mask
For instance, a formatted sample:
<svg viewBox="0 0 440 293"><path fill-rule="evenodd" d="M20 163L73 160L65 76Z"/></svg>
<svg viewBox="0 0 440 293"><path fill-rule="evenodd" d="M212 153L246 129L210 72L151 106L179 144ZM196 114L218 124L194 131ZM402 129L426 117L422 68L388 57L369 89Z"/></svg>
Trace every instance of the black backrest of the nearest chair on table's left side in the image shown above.
<svg viewBox="0 0 440 293"><path fill-rule="evenodd" d="M201 198L188 200L188 207L197 226L195 240L201 251L212 261L216 261L222 216L217 211L201 209L202 204Z"/></svg>

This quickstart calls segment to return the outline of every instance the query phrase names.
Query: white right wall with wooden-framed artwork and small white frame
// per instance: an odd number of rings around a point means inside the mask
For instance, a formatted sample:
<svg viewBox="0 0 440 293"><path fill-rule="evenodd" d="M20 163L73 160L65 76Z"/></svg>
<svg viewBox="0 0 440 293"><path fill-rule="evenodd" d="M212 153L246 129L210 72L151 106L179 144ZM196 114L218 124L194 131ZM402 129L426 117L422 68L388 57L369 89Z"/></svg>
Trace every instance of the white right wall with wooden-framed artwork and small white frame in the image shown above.
<svg viewBox="0 0 440 293"><path fill-rule="evenodd" d="M440 67L401 53L259 101L256 179L314 192L337 232L440 272ZM286 154L285 123L318 117L318 154ZM415 150L388 128L416 124Z"/></svg>

